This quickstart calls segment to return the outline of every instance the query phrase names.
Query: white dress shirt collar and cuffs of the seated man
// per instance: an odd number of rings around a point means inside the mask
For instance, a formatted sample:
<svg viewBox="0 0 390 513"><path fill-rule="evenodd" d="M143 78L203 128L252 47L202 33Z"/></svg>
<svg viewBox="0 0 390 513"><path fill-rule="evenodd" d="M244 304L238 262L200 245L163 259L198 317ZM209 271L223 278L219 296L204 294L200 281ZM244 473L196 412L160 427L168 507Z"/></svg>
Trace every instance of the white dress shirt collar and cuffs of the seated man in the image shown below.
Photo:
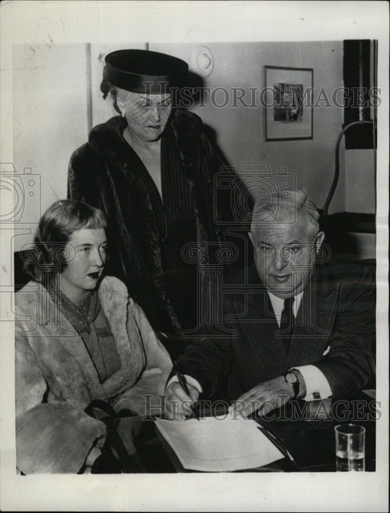
<svg viewBox="0 0 390 513"><path fill-rule="evenodd" d="M276 295L272 294L271 292L268 292L269 298L271 300L272 308L276 317L276 321L278 323L278 326L280 327L280 320L281 320L281 312L283 312L285 300L278 298ZM292 310L293 315L296 318L300 306L300 302L302 300L302 295L304 295L304 292L299 292L294 297ZM324 352L324 354L328 353L329 347ZM302 377L305 380L305 386L306 386L306 396L302 399L305 401L313 401L314 399L326 399L332 395L331 387L329 386L328 380L324 376L323 372L319 370L318 367L315 365L301 365L299 367L294 367L294 369L297 369L302 374ZM290 369L293 370L293 369ZM192 378L191 376L188 376L187 374L184 375L186 382L189 385L192 385L193 387L197 388L199 390L199 393L203 391L200 383L198 380ZM168 381L167 387L174 382L179 381L176 376L172 376L172 378Z"/></svg>

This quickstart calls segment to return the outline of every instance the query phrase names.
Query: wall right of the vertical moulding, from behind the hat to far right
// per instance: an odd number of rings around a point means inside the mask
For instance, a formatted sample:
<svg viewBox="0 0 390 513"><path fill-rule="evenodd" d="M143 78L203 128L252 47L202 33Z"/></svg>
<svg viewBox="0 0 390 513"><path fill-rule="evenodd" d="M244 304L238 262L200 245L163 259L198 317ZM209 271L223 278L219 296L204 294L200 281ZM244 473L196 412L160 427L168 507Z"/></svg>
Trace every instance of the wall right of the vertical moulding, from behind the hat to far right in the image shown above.
<svg viewBox="0 0 390 513"><path fill-rule="evenodd" d="M190 85L224 87L230 92L226 107L216 107L205 94L200 107L195 104L189 110L200 115L203 122L214 132L215 143L230 165L241 168L243 162L267 162L272 171L287 167L294 173L298 187L305 187L318 207L322 207L333 180L335 168L335 144L341 130L343 112L337 106L313 109L313 140L265 142L264 108L231 107L234 102L231 88L248 91L244 98L250 104L249 88L265 86L263 66L313 68L316 99L321 88L331 98L332 92L342 87L343 44L337 42L302 43L206 43L214 58L212 73L205 78L197 77ZM196 44L150 44L149 50L165 52L182 58L196 73L193 52ZM116 112L111 102L101 98L99 85L102 76L103 53L125 48L124 44L92 45L93 124L103 123ZM144 48L142 45L127 47ZM340 96L338 96L340 100ZM218 93L216 101L223 103L224 95ZM237 103L237 102L236 102ZM258 102L257 102L258 104ZM375 212L375 173L373 154L360 151L357 154L340 146L340 177L330 204L329 212ZM357 191L359 191L357 193Z"/></svg>

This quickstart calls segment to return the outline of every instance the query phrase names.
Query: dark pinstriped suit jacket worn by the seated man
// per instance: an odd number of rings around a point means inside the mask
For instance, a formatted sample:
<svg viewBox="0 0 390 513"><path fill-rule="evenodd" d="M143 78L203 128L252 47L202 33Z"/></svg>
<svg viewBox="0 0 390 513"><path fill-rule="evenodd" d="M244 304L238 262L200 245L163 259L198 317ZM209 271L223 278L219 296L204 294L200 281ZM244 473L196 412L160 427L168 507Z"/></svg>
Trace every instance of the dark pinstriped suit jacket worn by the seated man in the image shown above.
<svg viewBox="0 0 390 513"><path fill-rule="evenodd" d="M249 288L256 284L262 287L257 273ZM331 262L315 269L302 296L288 356L264 287L223 295L223 317L229 321L224 325L236 330L236 336L205 329L206 338L189 344L180 359L181 371L197 379L207 397L226 379L224 396L235 400L300 365L318 367L334 397L364 387L375 376L375 279L361 264Z"/></svg>

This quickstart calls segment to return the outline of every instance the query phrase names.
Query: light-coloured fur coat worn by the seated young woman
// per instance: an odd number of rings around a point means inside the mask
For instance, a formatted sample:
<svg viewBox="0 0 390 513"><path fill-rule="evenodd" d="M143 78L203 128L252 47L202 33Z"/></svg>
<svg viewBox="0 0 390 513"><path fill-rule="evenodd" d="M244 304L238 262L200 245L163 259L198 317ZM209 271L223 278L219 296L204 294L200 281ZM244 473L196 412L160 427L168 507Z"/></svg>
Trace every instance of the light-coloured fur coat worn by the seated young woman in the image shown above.
<svg viewBox="0 0 390 513"><path fill-rule="evenodd" d="M102 384L81 337L46 289L29 282L15 294L16 451L24 473L80 469L94 441L104 441L105 425L83 411L93 399L140 416L150 413L144 394L160 404L172 366L167 351L121 281L105 277L99 299L121 359Z"/></svg>

